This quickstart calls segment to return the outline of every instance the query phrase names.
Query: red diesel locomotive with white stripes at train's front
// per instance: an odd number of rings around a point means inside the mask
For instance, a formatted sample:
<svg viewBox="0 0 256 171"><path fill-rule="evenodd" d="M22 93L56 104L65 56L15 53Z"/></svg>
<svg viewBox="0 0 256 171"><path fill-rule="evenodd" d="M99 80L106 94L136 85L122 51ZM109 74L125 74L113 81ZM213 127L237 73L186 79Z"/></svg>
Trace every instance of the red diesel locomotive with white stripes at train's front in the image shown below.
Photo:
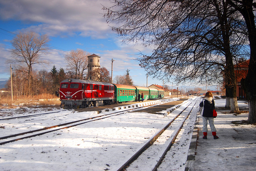
<svg viewBox="0 0 256 171"><path fill-rule="evenodd" d="M114 85L88 80L66 79L59 88L60 107L86 108L113 103Z"/></svg>

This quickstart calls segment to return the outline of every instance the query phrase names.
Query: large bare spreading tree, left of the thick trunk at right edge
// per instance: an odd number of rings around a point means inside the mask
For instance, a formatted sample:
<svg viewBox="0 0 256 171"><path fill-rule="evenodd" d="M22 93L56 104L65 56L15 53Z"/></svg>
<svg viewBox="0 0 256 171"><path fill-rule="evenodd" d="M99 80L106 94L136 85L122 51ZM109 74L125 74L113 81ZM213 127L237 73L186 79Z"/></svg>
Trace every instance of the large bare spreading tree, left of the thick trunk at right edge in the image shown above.
<svg viewBox="0 0 256 171"><path fill-rule="evenodd" d="M243 55L241 15L225 0L114 0L106 10L108 22L124 41L142 41L155 47L138 58L141 67L160 79L200 83L222 82L232 98L231 111L239 111L235 96L233 61Z"/></svg>

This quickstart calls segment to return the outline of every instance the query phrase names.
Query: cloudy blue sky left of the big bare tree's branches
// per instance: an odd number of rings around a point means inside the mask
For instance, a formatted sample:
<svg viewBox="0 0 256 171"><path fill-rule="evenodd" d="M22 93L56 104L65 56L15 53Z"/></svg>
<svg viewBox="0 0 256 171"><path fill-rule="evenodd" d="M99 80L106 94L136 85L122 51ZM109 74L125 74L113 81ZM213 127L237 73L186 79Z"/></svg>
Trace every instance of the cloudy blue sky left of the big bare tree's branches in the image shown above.
<svg viewBox="0 0 256 171"><path fill-rule="evenodd" d="M103 17L102 5L111 6L108 0L0 0L0 80L10 77L10 65L5 63L12 57L10 41L20 31L35 31L47 34L53 47L50 53L41 56L50 64L33 67L38 71L50 71L53 65L65 69L65 54L82 49L99 55L101 67L110 73L111 59L116 60L113 78L126 74L129 69L134 84L146 86L146 72L134 59L139 52L150 54L152 49L140 44L123 44ZM163 81L149 77L148 86L151 84L162 85Z"/></svg>

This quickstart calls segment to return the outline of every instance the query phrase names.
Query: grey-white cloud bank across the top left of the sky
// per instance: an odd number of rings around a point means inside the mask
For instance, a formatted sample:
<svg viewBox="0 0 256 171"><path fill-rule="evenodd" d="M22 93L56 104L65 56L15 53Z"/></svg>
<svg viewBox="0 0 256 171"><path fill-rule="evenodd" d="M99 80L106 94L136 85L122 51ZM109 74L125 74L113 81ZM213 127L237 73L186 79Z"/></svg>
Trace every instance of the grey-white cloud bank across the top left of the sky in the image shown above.
<svg viewBox="0 0 256 171"><path fill-rule="evenodd" d="M107 0L1 0L0 18L32 24L29 30L47 33L106 37L111 29L103 18L101 4Z"/></svg>

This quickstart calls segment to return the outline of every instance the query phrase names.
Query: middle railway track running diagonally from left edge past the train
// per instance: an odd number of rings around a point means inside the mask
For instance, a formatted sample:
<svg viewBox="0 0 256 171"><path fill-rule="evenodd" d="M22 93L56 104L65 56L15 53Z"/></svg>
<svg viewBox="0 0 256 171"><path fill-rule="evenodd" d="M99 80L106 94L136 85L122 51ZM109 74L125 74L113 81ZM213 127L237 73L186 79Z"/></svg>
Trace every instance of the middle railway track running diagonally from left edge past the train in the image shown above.
<svg viewBox="0 0 256 171"><path fill-rule="evenodd" d="M162 100L161 104L170 102L171 100L174 100L174 99ZM91 117L91 118L85 118L85 119L75 120L75 121L67 122L67 123L63 123L63 124L48 126L48 127L42 128L42 129L31 130L31 131L21 132L18 134L3 136L3 137L0 137L0 140L4 140L4 141L0 142L0 145L4 145L7 143L11 143L14 141L23 140L23 139L27 139L27 138L32 138L32 137L35 137L38 135L44 135L44 134L47 134L47 133L50 133L53 131L67 129L67 128L74 127L74 126L77 126L80 124L86 124L88 122L105 119L105 118L117 116L120 114L125 114L129 111L134 111L134 110L138 110L141 108L150 107L150 106L154 106L154 105L156 105L156 104L145 104L145 105L139 104L139 105L135 105L134 108L127 106L127 107L124 107L124 109L122 111L111 111L110 114L102 114L102 115ZM48 114L48 113L46 113L46 114ZM33 117L33 116L39 116L39 114L38 115L37 114L36 115L27 115L27 117ZM24 117L26 117L26 116L24 116ZM8 118L8 119L15 119L15 118L19 118L19 117ZM23 135L27 135L27 136L23 136ZM11 139L11 138L14 138L14 139Z"/></svg>

